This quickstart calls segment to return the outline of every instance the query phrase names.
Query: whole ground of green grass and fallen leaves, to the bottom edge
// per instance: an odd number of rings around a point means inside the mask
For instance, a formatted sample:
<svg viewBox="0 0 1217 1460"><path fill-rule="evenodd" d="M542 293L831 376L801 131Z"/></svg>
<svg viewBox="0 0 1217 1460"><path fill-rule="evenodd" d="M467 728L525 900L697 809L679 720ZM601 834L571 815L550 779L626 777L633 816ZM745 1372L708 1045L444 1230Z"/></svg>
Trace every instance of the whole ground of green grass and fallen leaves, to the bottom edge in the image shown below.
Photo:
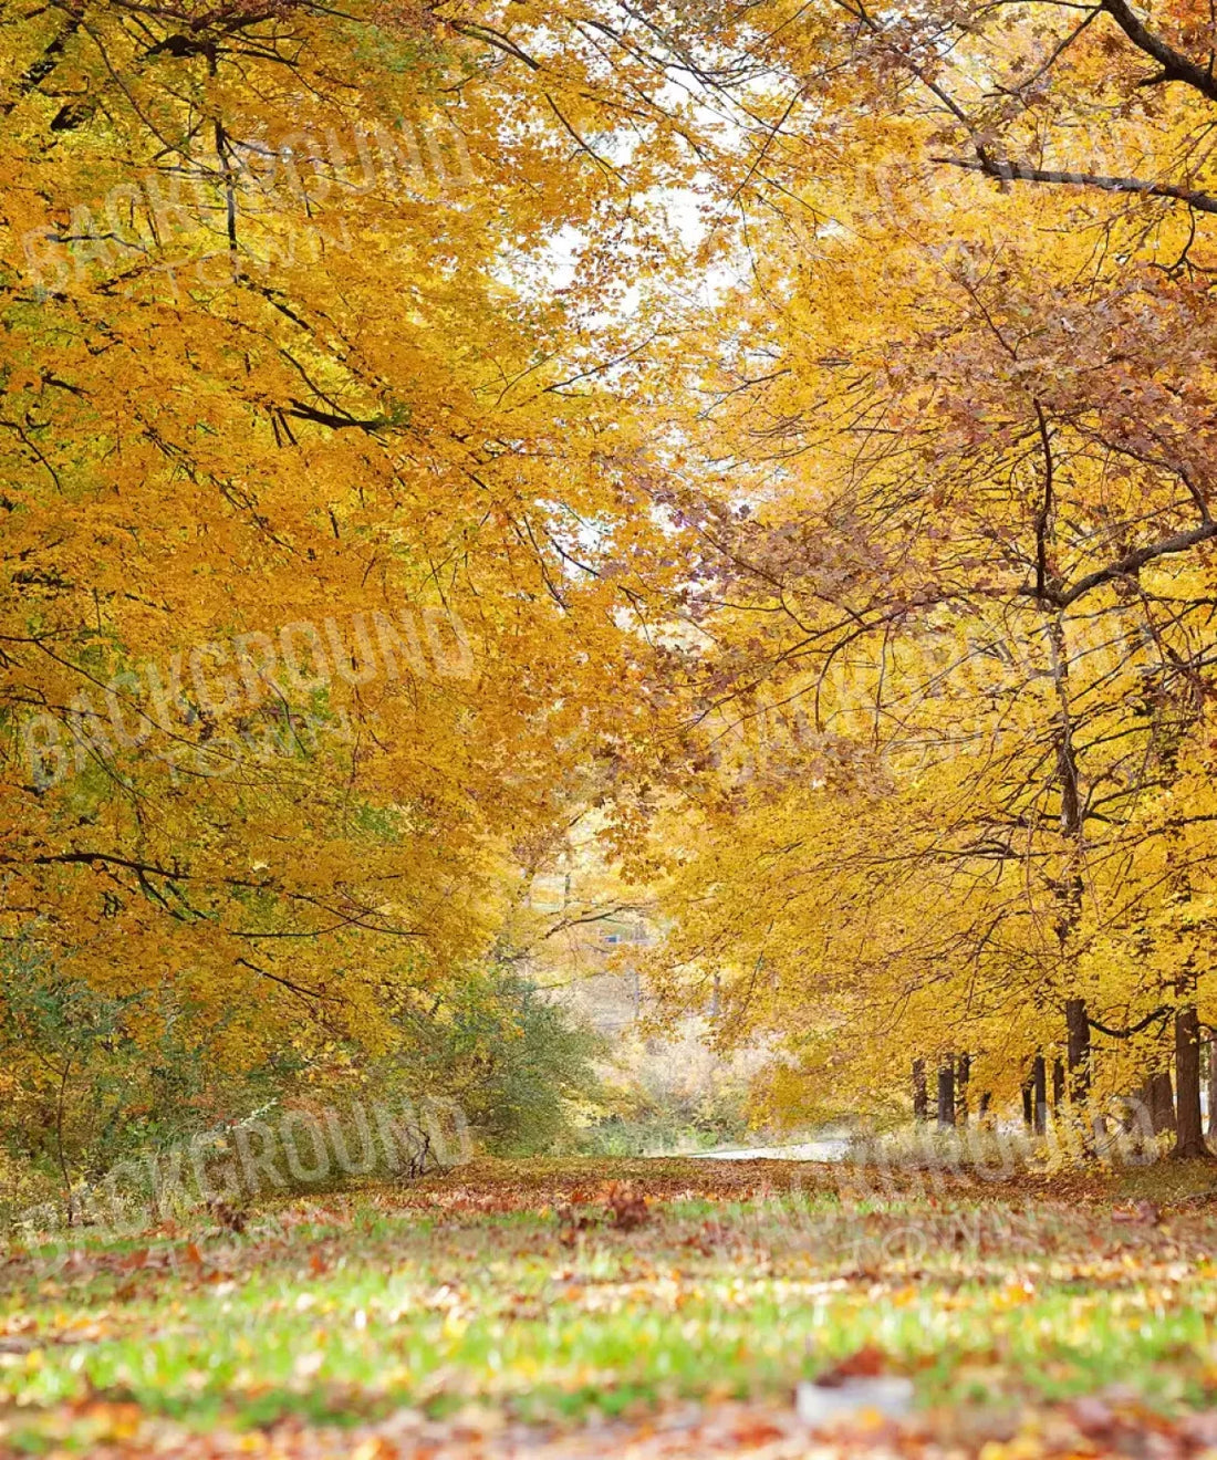
<svg viewBox="0 0 1217 1460"><path fill-rule="evenodd" d="M1214 1318L1217 1165L475 1162L10 1251L0 1448L1191 1456Z"/></svg>

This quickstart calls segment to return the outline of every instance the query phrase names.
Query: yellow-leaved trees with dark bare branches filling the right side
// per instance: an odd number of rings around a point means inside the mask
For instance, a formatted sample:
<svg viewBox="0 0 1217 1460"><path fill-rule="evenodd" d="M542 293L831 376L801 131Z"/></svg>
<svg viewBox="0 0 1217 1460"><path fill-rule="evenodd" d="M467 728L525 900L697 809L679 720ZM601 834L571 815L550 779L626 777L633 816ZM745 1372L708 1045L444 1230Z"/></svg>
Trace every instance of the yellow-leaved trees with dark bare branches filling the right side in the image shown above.
<svg viewBox="0 0 1217 1460"><path fill-rule="evenodd" d="M669 959L678 999L674 971L729 961L730 1028L872 1091L919 1053L1012 1094L1037 1053L1068 1063L1068 1007L1119 1088L1175 1019L1189 1152L1210 51L1192 6L768 32L790 197L754 212L703 356L691 677L723 753Z"/></svg>

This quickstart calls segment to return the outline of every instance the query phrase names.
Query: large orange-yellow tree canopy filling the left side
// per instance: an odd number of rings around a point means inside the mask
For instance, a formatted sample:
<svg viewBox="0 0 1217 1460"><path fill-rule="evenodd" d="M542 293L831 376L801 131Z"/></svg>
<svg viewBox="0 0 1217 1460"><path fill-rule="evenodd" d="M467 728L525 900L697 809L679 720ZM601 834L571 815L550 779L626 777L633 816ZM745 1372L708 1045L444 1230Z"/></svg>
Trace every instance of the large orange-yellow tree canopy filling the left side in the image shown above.
<svg viewBox="0 0 1217 1460"><path fill-rule="evenodd" d="M497 22L89 0L0 39L4 936L247 1066L462 981L657 718L652 326L606 305L662 263L682 110Z"/></svg>

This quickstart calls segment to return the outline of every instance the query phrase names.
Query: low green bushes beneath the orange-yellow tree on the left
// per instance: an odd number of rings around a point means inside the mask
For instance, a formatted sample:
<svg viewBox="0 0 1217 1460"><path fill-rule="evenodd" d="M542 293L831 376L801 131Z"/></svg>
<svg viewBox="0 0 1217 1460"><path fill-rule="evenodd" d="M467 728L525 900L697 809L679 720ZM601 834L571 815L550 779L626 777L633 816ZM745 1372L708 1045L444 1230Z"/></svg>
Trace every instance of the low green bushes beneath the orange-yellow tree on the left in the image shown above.
<svg viewBox="0 0 1217 1460"><path fill-rule="evenodd" d="M124 1164L171 1161L196 1136L216 1142L222 1165L234 1130L251 1120L273 1124L292 1110L324 1113L342 1127L352 1102L380 1102L406 1152L386 1155L371 1172L386 1177L450 1158L466 1123L473 1142L494 1153L570 1149L573 1114L598 1095L598 1037L510 967L475 968L441 999L419 997L400 1013L387 1057L330 1041L313 1058L286 1048L235 1072L206 1042L215 1031L169 991L98 991L29 942L0 955L0 978L6 1225L39 1204L54 1204L73 1225L86 1218L86 1187ZM412 1136L425 1142L440 1110L462 1127L456 1146L449 1132L443 1155L427 1148L415 1159Z"/></svg>

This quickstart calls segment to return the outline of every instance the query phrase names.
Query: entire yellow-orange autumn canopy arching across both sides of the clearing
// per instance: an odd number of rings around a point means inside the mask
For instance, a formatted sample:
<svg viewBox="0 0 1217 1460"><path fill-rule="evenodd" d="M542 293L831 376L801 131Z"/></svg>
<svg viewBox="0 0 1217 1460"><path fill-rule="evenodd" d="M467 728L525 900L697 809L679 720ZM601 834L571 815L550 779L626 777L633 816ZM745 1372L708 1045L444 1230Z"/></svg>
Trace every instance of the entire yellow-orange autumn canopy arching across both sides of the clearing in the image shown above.
<svg viewBox="0 0 1217 1460"><path fill-rule="evenodd" d="M4 946L348 1077L583 823L774 1105L1173 1069L1201 1153L1213 28L7 15Z"/></svg>

